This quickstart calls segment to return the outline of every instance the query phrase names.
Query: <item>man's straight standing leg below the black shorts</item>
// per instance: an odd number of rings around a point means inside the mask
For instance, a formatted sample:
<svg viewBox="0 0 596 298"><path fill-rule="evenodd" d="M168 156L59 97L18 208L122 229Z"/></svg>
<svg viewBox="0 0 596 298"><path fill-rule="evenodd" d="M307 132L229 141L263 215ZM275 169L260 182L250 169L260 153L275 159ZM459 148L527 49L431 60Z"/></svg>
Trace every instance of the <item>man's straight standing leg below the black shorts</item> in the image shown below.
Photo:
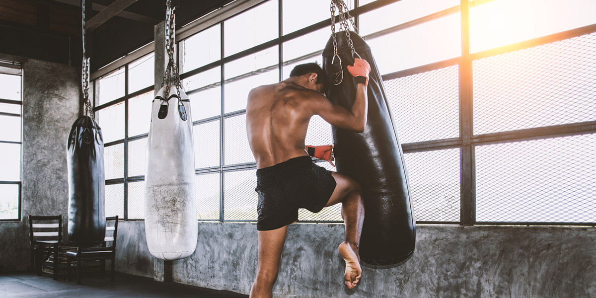
<svg viewBox="0 0 596 298"><path fill-rule="evenodd" d="M257 231L259 241L259 260L257 277L250 289L250 298L273 297L273 285L280 271L281 252L284 249L285 234L288 226L271 231Z"/></svg>

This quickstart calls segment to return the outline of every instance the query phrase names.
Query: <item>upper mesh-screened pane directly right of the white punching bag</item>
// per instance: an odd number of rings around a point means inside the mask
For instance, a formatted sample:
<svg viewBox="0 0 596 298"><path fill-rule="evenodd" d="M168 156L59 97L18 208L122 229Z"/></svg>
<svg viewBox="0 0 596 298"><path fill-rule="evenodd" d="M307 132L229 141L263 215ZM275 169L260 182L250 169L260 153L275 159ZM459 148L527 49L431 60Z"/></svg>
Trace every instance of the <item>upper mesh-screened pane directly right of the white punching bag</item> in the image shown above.
<svg viewBox="0 0 596 298"><path fill-rule="evenodd" d="M193 126L194 167L219 166L219 123L220 120Z"/></svg>

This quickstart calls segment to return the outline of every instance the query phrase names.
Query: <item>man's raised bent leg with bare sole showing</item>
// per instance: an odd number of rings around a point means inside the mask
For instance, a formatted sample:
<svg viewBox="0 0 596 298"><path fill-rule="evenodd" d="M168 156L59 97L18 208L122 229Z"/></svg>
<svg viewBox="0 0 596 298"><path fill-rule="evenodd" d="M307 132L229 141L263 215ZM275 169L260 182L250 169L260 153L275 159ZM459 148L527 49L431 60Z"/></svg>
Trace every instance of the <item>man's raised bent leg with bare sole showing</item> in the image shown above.
<svg viewBox="0 0 596 298"><path fill-rule="evenodd" d="M342 218L346 226L346 241L339 246L339 253L346 262L344 278L346 287L354 288L362 276L358 248L364 222L364 201L361 187L354 179L333 172L336 188L325 207L342 203Z"/></svg>

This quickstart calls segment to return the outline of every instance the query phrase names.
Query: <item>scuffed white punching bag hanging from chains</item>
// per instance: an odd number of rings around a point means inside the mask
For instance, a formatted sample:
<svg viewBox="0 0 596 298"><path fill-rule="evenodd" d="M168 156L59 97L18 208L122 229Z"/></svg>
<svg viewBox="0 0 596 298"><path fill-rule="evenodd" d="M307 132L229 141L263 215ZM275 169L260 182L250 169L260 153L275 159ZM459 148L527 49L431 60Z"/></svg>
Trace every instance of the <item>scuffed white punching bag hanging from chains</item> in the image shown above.
<svg viewBox="0 0 596 298"><path fill-rule="evenodd" d="M165 85L151 108L145 175L145 234L153 256L178 260L197 247L193 121L182 88Z"/></svg>

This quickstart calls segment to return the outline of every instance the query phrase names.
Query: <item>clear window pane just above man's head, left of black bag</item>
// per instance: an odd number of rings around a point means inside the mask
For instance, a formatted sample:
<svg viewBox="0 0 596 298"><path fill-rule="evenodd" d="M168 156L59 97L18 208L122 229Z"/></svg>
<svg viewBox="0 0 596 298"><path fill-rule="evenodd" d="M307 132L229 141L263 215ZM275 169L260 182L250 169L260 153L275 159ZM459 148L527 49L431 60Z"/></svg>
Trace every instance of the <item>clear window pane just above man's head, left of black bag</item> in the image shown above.
<svg viewBox="0 0 596 298"><path fill-rule="evenodd" d="M319 57L321 57L325 43L330 36L331 31L325 27L299 38L294 38L291 41L284 42L284 63L287 63L288 60L296 60L296 58L309 54L312 54L308 57L312 57L312 60L320 59ZM300 58L300 60L303 60L303 58Z"/></svg>

